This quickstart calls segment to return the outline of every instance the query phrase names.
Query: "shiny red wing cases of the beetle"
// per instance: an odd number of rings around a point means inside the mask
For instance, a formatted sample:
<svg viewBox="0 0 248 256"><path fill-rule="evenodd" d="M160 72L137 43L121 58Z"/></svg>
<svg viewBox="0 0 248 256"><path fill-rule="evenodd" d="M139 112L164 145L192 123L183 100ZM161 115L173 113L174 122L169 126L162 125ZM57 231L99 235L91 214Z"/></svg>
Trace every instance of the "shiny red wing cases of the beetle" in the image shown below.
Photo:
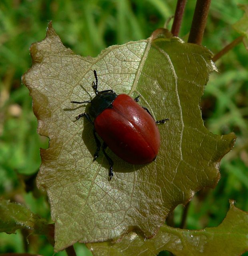
<svg viewBox="0 0 248 256"><path fill-rule="evenodd" d="M130 164L150 163L158 154L160 134L154 119L126 94L119 94L94 126L108 147Z"/></svg>

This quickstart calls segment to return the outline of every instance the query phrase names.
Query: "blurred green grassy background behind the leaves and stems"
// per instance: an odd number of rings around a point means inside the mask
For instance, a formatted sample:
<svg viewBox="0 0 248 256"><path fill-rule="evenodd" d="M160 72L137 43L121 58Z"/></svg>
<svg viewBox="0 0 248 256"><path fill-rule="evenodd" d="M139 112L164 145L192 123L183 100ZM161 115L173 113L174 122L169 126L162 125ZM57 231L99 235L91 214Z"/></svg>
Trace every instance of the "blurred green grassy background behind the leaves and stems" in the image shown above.
<svg viewBox="0 0 248 256"><path fill-rule="evenodd" d="M239 35L232 24L243 12L246 0L212 1L202 44L217 53ZM190 30L195 1L188 1L180 31ZM112 44L123 44L150 36L174 14L174 0L1 0L0 2L0 196L22 202L50 220L46 195L34 185L40 165L39 148L48 138L36 133L32 99L21 84L21 76L32 65L29 47L45 37L49 20L64 45L82 56L97 56ZM169 28L172 22L169 23ZM219 73L210 76L202 98L202 116L215 134L235 132L234 149L222 160L222 178L217 187L198 192L190 203L187 228L218 226L228 210L228 199L248 211L248 62L242 44L216 62ZM182 206L174 210L179 226ZM0 233L0 253L30 252L53 255L42 236ZM76 244L78 255L91 255ZM84 254L86 253L86 254ZM66 255L59 252L59 256ZM160 255L166 255L160 253Z"/></svg>

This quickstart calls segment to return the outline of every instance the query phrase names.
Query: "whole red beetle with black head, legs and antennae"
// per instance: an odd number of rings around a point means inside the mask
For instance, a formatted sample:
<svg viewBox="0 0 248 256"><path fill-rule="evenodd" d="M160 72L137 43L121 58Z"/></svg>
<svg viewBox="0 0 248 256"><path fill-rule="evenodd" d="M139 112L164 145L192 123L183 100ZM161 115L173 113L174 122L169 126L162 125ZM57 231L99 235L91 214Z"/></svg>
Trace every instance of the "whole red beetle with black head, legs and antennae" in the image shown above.
<svg viewBox="0 0 248 256"><path fill-rule="evenodd" d="M138 105L138 97L134 100L127 94L116 94L113 90L98 91L98 79L94 70L96 83L93 89L96 96L92 100L71 103L91 103L89 112L79 114L76 119L85 116L93 124L93 134L96 140L96 153L93 161L98 157L102 146L107 158L109 178L113 176L113 161L106 154L108 146L117 156L130 164L148 164L155 160L160 147L160 134L156 124L165 123L166 119L154 121L147 108ZM90 116L94 117L92 122ZM101 144L96 133L104 141Z"/></svg>

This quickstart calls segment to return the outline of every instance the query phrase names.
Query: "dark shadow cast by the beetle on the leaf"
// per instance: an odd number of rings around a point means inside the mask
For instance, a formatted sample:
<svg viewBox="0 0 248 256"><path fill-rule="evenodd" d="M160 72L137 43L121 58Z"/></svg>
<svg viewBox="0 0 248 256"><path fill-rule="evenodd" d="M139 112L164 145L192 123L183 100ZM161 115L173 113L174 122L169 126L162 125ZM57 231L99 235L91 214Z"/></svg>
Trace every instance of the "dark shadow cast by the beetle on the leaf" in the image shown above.
<svg viewBox="0 0 248 256"><path fill-rule="evenodd" d="M97 137L102 144L103 140L98 135ZM85 118L83 130L82 130L82 140L83 140L83 143L86 145L87 149L89 150L90 154L92 155L92 161L93 161L93 157L96 152L96 141L93 135L93 125L90 124L90 122L88 122L86 118ZM105 151L114 162L114 165L113 165L114 172L125 172L125 173L134 172L135 170L138 170L145 166L145 164L142 164L142 165L129 164L128 162L125 162L124 160L116 156L116 154L114 154L114 152L112 152L112 150L110 150L109 148L106 148ZM103 154L102 147L99 151L99 156L98 158L96 158L96 161L94 161L94 163L101 164L107 170L109 169L110 164L108 163L108 160ZM108 172L106 172L106 175L108 175Z"/></svg>

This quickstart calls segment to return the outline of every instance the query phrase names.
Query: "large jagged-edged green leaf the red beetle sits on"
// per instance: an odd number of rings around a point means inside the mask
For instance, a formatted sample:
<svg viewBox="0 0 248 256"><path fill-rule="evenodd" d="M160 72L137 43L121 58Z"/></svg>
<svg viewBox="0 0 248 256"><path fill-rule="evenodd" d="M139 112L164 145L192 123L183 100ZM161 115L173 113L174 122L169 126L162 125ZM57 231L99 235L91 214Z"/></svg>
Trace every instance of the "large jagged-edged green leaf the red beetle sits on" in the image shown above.
<svg viewBox="0 0 248 256"><path fill-rule="evenodd" d="M33 98L38 132L50 138L41 150L37 184L50 200L55 221L55 250L80 242L115 240L139 230L152 237L170 210L194 193L214 187L219 162L234 145L234 134L214 135L204 127L200 97L215 67L206 48L166 38L158 30L147 40L110 46L96 58L75 55L48 26L46 38L32 44L33 66L23 76ZM110 150L114 177L96 145L92 125L75 121L85 111L71 100L94 97L93 70L100 90L141 94L160 124L160 152L155 162L134 166ZM87 111L87 107L86 107Z"/></svg>

